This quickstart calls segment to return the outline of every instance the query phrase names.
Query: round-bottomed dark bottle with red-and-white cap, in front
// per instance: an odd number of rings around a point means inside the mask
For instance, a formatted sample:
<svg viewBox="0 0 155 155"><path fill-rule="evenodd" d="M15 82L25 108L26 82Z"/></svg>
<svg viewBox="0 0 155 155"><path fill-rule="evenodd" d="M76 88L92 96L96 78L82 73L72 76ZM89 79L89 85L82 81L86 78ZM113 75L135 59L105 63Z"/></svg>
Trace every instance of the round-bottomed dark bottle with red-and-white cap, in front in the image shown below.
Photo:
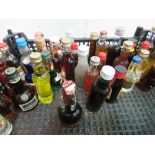
<svg viewBox="0 0 155 155"><path fill-rule="evenodd" d="M60 121L67 126L77 124L82 117L82 108L76 101L75 87L71 80L62 84L64 103L58 107L58 114Z"/></svg>

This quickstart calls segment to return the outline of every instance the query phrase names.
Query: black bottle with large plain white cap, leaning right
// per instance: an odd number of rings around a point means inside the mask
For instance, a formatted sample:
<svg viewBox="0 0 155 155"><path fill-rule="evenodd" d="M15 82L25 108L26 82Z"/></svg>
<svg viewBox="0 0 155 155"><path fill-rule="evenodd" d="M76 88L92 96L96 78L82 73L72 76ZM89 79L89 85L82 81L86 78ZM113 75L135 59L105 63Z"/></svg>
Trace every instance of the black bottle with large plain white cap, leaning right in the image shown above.
<svg viewBox="0 0 155 155"><path fill-rule="evenodd" d="M102 67L100 77L93 83L87 98L86 108L90 112L97 112L100 110L110 92L109 82L113 79L114 74L115 69L113 67L108 65Z"/></svg>

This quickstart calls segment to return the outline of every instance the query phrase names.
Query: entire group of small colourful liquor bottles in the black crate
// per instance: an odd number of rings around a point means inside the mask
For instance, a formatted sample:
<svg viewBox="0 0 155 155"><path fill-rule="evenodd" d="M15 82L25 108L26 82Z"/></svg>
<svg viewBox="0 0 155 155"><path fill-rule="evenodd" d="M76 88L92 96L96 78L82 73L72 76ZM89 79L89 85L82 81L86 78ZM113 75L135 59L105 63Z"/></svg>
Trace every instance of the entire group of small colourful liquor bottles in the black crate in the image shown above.
<svg viewBox="0 0 155 155"><path fill-rule="evenodd" d="M101 31L100 35L91 33L90 46L78 46L69 35L62 39L52 37L47 47L43 33L36 32L36 51L30 50L24 37L16 39L20 60L10 52L9 45L1 42L0 134L11 133L10 114L32 110L38 103L51 104L60 88L63 103L58 107L59 118L71 126L82 117L76 86L84 89L90 112L99 111L105 101L117 102L121 92L131 91L134 84L142 91L155 86L152 41L146 39L140 48L135 48L136 39L131 39L122 46L124 28L116 28L115 34L119 41L112 44L106 41L107 32Z"/></svg>

